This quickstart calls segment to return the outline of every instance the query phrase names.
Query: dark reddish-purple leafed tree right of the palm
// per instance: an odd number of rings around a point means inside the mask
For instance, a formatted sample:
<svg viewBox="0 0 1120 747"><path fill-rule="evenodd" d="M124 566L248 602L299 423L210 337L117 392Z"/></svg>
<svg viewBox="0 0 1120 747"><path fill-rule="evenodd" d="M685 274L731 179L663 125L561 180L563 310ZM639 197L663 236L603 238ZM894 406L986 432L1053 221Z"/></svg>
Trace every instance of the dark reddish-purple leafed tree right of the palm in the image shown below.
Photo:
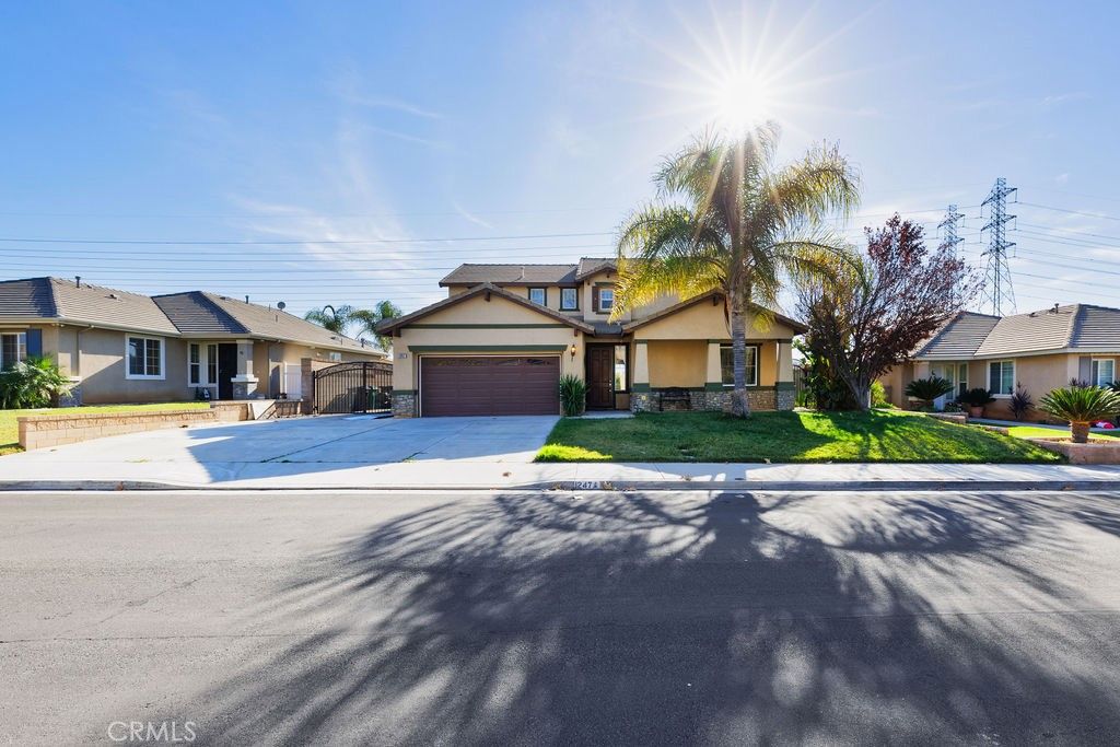
<svg viewBox="0 0 1120 747"><path fill-rule="evenodd" d="M952 246L926 249L921 225L896 214L864 231L867 254L838 260L832 282L803 283L799 307L811 355L866 410L871 383L963 309L978 286Z"/></svg>

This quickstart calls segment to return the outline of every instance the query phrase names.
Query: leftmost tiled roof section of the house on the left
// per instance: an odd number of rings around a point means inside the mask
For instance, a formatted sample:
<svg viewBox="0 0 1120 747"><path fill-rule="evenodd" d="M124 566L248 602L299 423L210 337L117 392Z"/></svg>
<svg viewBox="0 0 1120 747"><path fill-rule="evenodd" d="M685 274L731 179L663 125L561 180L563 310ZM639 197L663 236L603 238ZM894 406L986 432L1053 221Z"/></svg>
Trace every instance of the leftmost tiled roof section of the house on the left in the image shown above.
<svg viewBox="0 0 1120 747"><path fill-rule="evenodd" d="M78 325L176 335L148 296L60 278L0 282L0 317L57 319Z"/></svg>

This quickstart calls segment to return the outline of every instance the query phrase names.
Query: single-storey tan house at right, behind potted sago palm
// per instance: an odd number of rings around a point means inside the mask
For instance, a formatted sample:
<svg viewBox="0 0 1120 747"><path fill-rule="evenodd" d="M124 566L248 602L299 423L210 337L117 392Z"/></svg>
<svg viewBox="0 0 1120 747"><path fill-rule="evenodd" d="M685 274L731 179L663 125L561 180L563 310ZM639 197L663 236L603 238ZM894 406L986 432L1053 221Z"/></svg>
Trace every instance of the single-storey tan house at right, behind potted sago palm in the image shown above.
<svg viewBox="0 0 1120 747"><path fill-rule="evenodd" d="M911 381L932 374L954 386L952 394L935 402L937 408L964 390L983 387L996 398L986 414L1007 418L1017 385L1037 402L1071 380L1109 384L1116 381L1118 360L1120 309L1075 304L1009 317L961 311L923 343L911 362L881 381L898 407L909 404L904 392Z"/></svg>

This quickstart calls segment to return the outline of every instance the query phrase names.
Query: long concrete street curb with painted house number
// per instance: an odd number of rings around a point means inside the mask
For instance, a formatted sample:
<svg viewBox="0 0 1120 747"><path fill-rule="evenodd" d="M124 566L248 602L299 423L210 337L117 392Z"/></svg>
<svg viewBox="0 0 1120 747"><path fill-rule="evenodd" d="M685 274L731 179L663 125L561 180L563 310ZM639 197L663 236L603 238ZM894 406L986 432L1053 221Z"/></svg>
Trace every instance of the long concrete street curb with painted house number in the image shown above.
<svg viewBox="0 0 1120 747"><path fill-rule="evenodd" d="M1120 492L1120 480L552 480L515 485L327 485L327 486L245 486L180 485L151 480L0 480L0 492L242 492L242 493L324 493L329 491L371 491L379 493L439 493L445 491L754 491L773 493L866 492Z"/></svg>

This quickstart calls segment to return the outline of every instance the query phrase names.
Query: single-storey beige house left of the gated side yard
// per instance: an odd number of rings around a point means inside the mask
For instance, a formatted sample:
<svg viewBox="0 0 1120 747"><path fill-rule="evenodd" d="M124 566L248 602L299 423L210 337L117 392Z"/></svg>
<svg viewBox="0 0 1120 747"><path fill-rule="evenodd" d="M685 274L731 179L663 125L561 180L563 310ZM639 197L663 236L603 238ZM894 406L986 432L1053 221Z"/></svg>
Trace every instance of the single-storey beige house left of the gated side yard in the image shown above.
<svg viewBox="0 0 1120 747"><path fill-rule="evenodd" d="M215 293L142 296L76 280L0 281L0 367L52 357L77 386L67 404L297 399L300 362L385 360L279 309Z"/></svg>

